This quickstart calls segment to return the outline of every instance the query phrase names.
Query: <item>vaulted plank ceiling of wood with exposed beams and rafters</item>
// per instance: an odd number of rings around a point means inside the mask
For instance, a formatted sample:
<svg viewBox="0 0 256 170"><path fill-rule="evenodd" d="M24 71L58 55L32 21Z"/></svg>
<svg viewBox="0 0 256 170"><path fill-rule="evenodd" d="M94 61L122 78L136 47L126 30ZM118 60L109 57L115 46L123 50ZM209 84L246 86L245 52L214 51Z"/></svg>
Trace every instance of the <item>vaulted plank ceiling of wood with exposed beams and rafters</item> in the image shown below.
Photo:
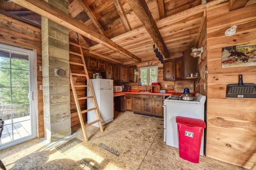
<svg viewBox="0 0 256 170"><path fill-rule="evenodd" d="M58 15L55 8L40 0L0 0L0 13L37 27L40 15L62 20L60 23L70 29L71 41L79 33L88 55L125 65L157 59L154 43L165 58L196 47L205 7L226 1L207 0L201 5L201 0L68 0L68 16ZM242 1L246 4L248 0Z"/></svg>

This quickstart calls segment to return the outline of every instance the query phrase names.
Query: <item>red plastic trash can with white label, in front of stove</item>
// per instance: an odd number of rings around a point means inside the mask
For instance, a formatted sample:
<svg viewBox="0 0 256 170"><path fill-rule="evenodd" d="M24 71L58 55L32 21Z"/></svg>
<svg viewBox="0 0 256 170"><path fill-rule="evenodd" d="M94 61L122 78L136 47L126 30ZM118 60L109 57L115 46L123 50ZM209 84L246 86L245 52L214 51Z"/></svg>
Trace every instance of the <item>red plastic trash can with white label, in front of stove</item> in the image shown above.
<svg viewBox="0 0 256 170"><path fill-rule="evenodd" d="M176 116L180 157L198 163L205 122L202 119Z"/></svg>

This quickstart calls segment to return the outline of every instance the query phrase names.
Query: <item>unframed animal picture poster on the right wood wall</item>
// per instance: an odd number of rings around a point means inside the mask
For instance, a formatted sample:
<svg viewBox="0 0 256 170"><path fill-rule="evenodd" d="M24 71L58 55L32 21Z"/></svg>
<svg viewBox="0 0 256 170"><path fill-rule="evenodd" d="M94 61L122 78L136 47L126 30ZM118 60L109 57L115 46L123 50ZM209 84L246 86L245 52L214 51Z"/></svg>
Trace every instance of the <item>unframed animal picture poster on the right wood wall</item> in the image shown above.
<svg viewBox="0 0 256 170"><path fill-rule="evenodd" d="M256 43L222 47L222 68L256 66Z"/></svg>

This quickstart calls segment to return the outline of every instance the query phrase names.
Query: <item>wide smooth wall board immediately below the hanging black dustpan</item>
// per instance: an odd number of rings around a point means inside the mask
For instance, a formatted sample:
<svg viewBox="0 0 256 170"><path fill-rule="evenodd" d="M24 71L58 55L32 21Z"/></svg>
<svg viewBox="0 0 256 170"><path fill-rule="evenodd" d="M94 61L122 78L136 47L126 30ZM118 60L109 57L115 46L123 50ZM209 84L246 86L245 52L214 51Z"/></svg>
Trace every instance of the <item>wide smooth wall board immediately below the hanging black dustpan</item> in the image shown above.
<svg viewBox="0 0 256 170"><path fill-rule="evenodd" d="M208 97L208 96L207 96ZM256 100L207 98L207 116L256 122Z"/></svg>

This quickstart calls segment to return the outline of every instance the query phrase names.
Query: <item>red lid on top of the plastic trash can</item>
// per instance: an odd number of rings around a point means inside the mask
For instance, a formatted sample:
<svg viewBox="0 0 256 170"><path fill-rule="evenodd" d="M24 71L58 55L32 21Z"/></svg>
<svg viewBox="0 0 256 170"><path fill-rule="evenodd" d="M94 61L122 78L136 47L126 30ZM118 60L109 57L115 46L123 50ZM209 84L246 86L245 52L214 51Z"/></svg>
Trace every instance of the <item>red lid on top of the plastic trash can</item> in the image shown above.
<svg viewBox="0 0 256 170"><path fill-rule="evenodd" d="M202 119L195 119L190 117L176 116L176 122L187 126L203 127L205 128L205 122Z"/></svg>

